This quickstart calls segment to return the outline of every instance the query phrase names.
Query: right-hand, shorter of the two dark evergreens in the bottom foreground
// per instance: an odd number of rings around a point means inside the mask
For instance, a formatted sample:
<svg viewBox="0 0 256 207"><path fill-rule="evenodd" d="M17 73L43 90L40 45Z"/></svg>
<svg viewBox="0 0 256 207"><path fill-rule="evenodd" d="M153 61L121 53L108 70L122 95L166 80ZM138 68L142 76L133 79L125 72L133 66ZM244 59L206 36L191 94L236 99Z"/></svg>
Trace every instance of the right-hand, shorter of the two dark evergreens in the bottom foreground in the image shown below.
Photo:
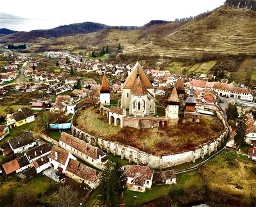
<svg viewBox="0 0 256 207"><path fill-rule="evenodd" d="M124 174L121 164L116 160L115 165L112 169L112 175L114 179L114 184L116 185L115 189L118 197L122 196L123 191L125 190L124 186L127 183L127 177Z"/></svg>

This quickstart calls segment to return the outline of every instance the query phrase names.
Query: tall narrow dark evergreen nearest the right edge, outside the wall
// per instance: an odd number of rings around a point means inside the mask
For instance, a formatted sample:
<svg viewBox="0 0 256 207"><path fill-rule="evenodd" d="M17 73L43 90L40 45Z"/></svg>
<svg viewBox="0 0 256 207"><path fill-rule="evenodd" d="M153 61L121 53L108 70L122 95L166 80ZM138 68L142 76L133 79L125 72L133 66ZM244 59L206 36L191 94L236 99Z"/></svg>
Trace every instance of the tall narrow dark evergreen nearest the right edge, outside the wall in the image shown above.
<svg viewBox="0 0 256 207"><path fill-rule="evenodd" d="M246 138L246 121L247 117L244 113L244 109L241 110L241 113L237 119L237 129L235 129L235 136L234 142L237 147L244 147L245 146L245 138Z"/></svg>

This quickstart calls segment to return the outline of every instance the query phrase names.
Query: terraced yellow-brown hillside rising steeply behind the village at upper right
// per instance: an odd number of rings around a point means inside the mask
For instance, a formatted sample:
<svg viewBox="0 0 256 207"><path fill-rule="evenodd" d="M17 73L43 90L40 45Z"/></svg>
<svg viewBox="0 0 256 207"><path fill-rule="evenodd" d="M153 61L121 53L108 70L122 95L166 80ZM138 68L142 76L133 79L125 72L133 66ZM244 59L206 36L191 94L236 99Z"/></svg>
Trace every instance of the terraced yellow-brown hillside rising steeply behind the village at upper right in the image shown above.
<svg viewBox="0 0 256 207"><path fill-rule="evenodd" d="M163 39L126 51L166 56L197 53L251 53L256 49L256 12L223 6L188 22Z"/></svg>

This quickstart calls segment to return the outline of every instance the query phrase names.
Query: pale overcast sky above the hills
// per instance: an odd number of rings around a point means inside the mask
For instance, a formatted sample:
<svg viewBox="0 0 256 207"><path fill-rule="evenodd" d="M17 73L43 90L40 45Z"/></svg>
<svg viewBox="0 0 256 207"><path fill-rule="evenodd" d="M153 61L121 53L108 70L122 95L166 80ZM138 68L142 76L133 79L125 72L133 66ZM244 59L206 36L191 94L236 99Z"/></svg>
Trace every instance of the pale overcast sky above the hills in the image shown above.
<svg viewBox="0 0 256 207"><path fill-rule="evenodd" d="M0 28L17 31L97 22L111 26L142 26L150 20L197 16L224 0L2 0Z"/></svg>

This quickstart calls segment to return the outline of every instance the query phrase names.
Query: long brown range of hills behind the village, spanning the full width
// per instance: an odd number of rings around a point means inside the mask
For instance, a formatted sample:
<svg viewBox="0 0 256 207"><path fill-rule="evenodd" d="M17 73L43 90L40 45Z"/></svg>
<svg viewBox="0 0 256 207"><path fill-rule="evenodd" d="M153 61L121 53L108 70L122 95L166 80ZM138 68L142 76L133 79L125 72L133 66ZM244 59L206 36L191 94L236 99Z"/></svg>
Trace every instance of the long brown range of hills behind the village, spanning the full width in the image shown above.
<svg viewBox="0 0 256 207"><path fill-rule="evenodd" d="M32 42L30 50L35 52L49 49L99 51L106 45L117 48L118 43L122 45L123 54L133 55L200 57L203 53L252 54L256 51L256 12L250 9L221 6L187 23L151 21L137 30L120 30L115 27L100 29L102 27L104 25L98 25L98 31L95 32L55 39L49 39L51 35L36 38L36 35L31 36L33 33L27 33L24 36L28 37L23 39ZM59 30L65 31L65 28ZM8 37L9 40L25 43L18 37L18 33L6 35L0 40ZM66 34L69 33L72 31Z"/></svg>

